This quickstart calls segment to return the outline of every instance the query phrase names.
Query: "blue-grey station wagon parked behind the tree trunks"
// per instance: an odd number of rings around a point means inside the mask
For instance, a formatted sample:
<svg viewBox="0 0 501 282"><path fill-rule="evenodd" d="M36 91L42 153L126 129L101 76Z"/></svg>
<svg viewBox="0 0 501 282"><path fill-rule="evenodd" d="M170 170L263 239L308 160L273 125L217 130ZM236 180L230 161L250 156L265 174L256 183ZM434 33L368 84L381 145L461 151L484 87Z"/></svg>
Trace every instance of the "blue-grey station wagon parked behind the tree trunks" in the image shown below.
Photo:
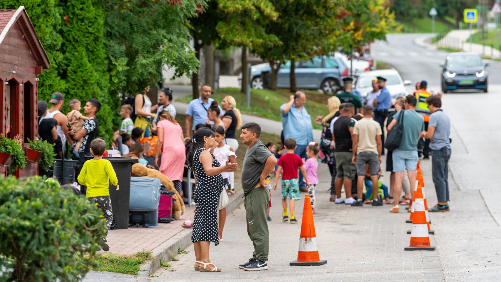
<svg viewBox="0 0 501 282"><path fill-rule="evenodd" d="M303 89L321 89L326 94L334 94L343 86L343 78L348 76L348 68L340 58L315 57L310 61L296 62L296 84ZM250 68L251 83L254 89L263 89L261 74L271 71L269 63L254 65ZM279 88L290 88L291 61L282 64L278 73ZM241 82L241 74L238 78Z"/></svg>

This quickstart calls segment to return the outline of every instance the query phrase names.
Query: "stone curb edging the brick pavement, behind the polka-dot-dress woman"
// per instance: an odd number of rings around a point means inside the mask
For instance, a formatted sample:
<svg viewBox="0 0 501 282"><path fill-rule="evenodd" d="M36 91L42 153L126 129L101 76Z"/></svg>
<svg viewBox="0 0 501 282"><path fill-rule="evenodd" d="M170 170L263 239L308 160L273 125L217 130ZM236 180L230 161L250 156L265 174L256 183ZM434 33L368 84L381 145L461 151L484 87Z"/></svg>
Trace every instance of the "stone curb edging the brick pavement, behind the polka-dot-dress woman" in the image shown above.
<svg viewBox="0 0 501 282"><path fill-rule="evenodd" d="M232 212L243 203L242 196L243 190L240 188L235 195L230 197L230 201L226 206L226 214ZM139 265L138 278L147 278L150 274L154 273L160 268L160 260L164 262L169 261L169 253L177 255L178 248L185 249L187 246L191 245L191 233L191 228L185 228L154 248L151 253L153 259Z"/></svg>

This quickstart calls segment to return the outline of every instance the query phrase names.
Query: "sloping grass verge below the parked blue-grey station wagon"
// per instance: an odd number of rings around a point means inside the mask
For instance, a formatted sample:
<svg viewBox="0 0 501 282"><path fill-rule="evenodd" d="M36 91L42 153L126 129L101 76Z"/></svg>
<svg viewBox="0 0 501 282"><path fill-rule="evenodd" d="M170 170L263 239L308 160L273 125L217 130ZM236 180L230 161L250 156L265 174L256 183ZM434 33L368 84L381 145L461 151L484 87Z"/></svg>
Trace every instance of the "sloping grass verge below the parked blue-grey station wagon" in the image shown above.
<svg viewBox="0 0 501 282"><path fill-rule="evenodd" d="M313 128L322 129L322 126L315 122L315 117L327 114L327 99L329 96L315 90L301 91L306 93L305 107L312 118ZM221 88L219 91L214 92L211 98L221 102L224 96L231 95L235 98L237 108L241 113L281 121L280 106L289 101L291 94L288 89L279 89L277 91L270 89L250 89L250 108L245 106L246 96L238 88ZM178 101L189 103L191 100L191 96L185 96Z"/></svg>

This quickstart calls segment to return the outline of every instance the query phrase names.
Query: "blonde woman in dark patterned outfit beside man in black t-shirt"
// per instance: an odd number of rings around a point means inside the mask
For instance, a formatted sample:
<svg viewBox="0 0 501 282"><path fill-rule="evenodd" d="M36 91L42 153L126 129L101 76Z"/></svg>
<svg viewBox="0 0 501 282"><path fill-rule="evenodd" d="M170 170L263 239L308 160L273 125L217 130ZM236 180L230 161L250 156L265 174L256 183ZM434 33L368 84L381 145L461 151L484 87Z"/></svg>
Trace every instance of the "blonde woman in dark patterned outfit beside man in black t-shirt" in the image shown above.
<svg viewBox="0 0 501 282"><path fill-rule="evenodd" d="M332 96L327 100L327 108L329 109L329 114L326 116L317 116L315 121L322 123L322 135L320 137L320 153L319 157L322 163L329 166L329 171L331 173L331 201L336 200L336 189L334 189L334 180L336 179L336 159L334 159L334 140L333 136L333 125L338 119L339 106L341 101L338 97ZM334 197L334 200L333 200Z"/></svg>

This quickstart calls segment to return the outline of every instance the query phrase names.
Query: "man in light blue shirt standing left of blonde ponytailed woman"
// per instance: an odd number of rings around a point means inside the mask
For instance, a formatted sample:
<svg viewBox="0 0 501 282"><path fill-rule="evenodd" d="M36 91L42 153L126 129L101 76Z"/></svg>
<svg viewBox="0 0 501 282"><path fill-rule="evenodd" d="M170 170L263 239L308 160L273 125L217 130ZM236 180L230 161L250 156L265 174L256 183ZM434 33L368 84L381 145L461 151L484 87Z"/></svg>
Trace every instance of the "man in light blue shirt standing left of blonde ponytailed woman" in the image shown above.
<svg viewBox="0 0 501 282"><path fill-rule="evenodd" d="M188 108L186 109L186 119L184 120L184 129L186 130L186 137L190 137L191 132L195 129L198 123L205 124L207 120L207 110L214 99L210 98L212 94L212 88L208 84L203 84L200 87L200 97L198 99L193 99L189 102ZM221 107L218 105L223 114ZM191 120L193 120L193 125L191 126Z"/></svg>

